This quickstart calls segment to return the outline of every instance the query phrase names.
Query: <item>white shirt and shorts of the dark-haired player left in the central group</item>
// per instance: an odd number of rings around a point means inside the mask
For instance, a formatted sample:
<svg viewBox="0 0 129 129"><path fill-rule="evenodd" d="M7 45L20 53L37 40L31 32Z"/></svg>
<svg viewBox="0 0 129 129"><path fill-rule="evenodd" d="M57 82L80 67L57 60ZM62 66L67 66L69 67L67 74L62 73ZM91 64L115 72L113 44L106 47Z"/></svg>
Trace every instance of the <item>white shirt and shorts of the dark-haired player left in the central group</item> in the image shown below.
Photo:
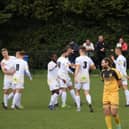
<svg viewBox="0 0 129 129"><path fill-rule="evenodd" d="M58 83L58 66L54 61L50 61L48 63L48 85L50 91L59 89L59 83Z"/></svg>

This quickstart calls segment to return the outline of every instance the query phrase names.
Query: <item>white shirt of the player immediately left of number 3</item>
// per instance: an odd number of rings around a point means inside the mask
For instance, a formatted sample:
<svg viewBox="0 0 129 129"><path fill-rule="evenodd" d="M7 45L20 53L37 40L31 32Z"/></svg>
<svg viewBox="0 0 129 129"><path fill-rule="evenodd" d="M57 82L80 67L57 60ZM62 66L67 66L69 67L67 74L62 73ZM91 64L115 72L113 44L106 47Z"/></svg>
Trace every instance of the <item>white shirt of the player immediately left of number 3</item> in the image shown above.
<svg viewBox="0 0 129 129"><path fill-rule="evenodd" d="M63 56L59 57L57 60L58 64L58 76L61 79L67 80L69 78L69 60Z"/></svg>

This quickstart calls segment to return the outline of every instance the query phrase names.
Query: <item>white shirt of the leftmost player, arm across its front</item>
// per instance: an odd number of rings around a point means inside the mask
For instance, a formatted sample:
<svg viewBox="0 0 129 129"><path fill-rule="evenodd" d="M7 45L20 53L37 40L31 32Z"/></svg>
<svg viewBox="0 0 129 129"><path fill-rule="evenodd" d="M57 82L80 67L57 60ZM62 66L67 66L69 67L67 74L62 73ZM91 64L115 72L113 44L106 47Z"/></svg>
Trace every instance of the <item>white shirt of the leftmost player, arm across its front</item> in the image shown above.
<svg viewBox="0 0 129 129"><path fill-rule="evenodd" d="M1 61L1 67L2 69L5 69L7 71L12 71L14 70L14 61L16 60L16 57L14 56L9 56L9 59L3 59ZM13 75L4 75L4 80L12 79Z"/></svg>

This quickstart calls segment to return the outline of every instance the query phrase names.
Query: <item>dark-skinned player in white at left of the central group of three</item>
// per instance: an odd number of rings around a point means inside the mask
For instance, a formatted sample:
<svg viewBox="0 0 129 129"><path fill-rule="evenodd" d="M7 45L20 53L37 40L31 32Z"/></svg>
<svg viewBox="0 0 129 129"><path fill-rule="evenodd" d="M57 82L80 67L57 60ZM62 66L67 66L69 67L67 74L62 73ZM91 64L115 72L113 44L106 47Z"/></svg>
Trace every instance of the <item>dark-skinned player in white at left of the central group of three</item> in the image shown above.
<svg viewBox="0 0 129 129"><path fill-rule="evenodd" d="M59 83L58 83L58 66L57 66L57 55L52 54L51 61L48 63L48 85L51 91L51 98L49 103L49 109L53 110L57 104L59 95Z"/></svg>

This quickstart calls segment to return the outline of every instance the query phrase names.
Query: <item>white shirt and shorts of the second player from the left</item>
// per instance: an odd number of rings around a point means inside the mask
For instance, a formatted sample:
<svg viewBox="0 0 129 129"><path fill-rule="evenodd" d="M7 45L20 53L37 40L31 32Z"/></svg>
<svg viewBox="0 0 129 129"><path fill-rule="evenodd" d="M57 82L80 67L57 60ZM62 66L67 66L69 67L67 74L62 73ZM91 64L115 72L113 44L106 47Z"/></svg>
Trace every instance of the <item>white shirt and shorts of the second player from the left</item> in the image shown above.
<svg viewBox="0 0 129 129"><path fill-rule="evenodd" d="M13 84L15 88L24 89L24 75L28 75L30 80L32 79L31 74L29 72L28 63L23 59L16 59L14 62L15 74L13 76Z"/></svg>

